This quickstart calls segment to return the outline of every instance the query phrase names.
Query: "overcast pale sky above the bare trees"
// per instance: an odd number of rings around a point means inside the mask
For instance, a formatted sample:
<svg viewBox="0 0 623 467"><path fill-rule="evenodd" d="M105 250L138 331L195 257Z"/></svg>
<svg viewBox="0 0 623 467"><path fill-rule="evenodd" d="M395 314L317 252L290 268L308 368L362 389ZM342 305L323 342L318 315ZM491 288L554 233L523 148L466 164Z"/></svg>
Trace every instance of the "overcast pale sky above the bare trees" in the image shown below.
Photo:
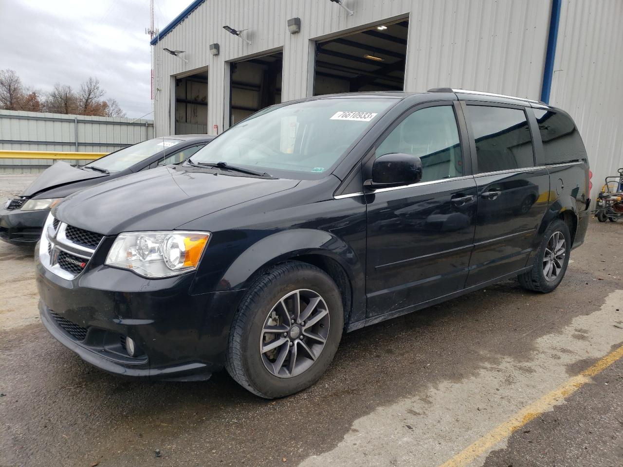
<svg viewBox="0 0 623 467"><path fill-rule="evenodd" d="M156 27L190 3L155 0ZM150 0L0 0L0 70L44 92L97 77L137 118L151 111L149 26Z"/></svg>

